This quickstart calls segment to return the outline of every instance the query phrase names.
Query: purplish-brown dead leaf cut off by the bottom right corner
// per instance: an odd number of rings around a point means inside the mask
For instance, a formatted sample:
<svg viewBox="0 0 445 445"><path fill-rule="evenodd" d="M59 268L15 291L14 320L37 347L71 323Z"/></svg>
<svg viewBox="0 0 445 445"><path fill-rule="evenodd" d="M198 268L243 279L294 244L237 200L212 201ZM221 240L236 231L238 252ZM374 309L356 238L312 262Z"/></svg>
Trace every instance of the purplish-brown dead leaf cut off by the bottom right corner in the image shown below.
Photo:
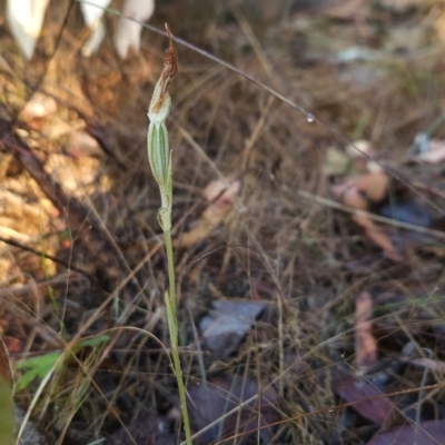
<svg viewBox="0 0 445 445"><path fill-rule="evenodd" d="M397 426L377 433L367 445L441 445L445 444L445 421L427 421L419 425Z"/></svg>

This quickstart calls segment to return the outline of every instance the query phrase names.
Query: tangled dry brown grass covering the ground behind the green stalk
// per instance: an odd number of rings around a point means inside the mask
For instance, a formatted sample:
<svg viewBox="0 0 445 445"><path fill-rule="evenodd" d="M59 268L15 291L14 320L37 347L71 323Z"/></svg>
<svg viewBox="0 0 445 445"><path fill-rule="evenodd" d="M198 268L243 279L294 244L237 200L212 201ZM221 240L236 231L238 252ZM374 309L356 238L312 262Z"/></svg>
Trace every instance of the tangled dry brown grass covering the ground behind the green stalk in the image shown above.
<svg viewBox="0 0 445 445"><path fill-rule="evenodd" d="M438 240L421 244L402 263L392 263L348 214L298 190L333 199L333 179L323 170L326 150L367 139L376 147L375 158L413 196L434 202L436 217L443 216L442 198L431 191L443 187L439 168L400 161L415 135L443 113L443 47L431 23L421 20L428 11L375 11L364 36L354 20L316 13L293 12L266 23L258 17L253 22L249 11L210 2L202 11L199 2L174 3L159 6L155 26L168 19L175 34L228 60L319 119L308 122L304 113L236 72L178 46L180 75L171 86L169 120L176 237L199 219L208 205L202 190L211 180L243 182L224 222L176 253L185 375L190 382L237 375L264 389L273 387L281 422L270 443L366 443L378 428L335 393L339 369L355 366L355 299L364 289L374 298L382 363L375 375L387 378L385 392L418 388L423 370L390 360L408 342L421 352L432 350L436 360L445 358L444 246ZM50 441L62 443L68 434L88 443L130 425L140 412L166 415L177 403L162 346L168 347L168 336L162 309L166 258L156 219L160 202L146 155L147 107L166 41L146 31L141 53L126 62L108 42L93 58L82 59L81 23L73 13L52 55L66 12L60 4L47 17L32 62L24 63L10 37L1 34L2 57L12 72L0 78L1 119L13 119L13 127L3 123L2 138L11 131L19 135L60 182L67 202L76 198L89 219L73 228L69 210L48 199L14 147L1 145L0 235L34 250L1 245L1 328L13 360L65 348L76 338L110 335L107 345L83 349L55 374L31 415L50 432ZM419 27L417 40L409 33L412 22ZM405 49L385 49L403 32ZM358 46L373 51L374 59L335 61L342 49ZM56 108L29 120L18 112L33 92L51 98ZM72 131L81 127L102 141L106 152L89 156L70 146ZM444 128L435 136L444 138ZM85 233L90 225L99 234L99 250L112 257L109 263L88 249ZM61 261L44 259L39 251ZM270 306L230 360L204 350L202 369L192 324L222 296L260 298ZM429 373L427 383L436 382L438 376ZM18 402L28 407L36 387L20 392ZM392 402L415 422L416 394ZM443 389L432 389L425 404L425 419L435 416L429 414L434 409L441 413Z"/></svg>

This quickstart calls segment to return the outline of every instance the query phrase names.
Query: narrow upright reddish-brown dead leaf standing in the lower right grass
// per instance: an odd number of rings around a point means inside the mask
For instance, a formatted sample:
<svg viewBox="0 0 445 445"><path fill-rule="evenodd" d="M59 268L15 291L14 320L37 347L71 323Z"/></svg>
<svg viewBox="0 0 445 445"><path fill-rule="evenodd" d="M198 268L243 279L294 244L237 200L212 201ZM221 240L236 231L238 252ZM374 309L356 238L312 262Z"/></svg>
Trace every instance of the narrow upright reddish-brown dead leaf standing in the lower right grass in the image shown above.
<svg viewBox="0 0 445 445"><path fill-rule="evenodd" d="M373 335L373 297L363 291L355 301L355 354L356 368L365 373L375 367L377 362L377 343Z"/></svg>

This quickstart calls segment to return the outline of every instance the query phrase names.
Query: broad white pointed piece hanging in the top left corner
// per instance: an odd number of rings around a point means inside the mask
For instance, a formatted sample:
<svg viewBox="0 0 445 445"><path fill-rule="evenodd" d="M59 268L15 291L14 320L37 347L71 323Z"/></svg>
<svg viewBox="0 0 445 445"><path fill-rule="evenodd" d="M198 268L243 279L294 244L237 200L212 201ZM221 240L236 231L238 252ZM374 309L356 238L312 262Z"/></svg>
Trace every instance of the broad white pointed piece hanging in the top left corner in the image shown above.
<svg viewBox="0 0 445 445"><path fill-rule="evenodd" d="M7 21L28 60L34 52L48 3L49 0L8 0Z"/></svg>

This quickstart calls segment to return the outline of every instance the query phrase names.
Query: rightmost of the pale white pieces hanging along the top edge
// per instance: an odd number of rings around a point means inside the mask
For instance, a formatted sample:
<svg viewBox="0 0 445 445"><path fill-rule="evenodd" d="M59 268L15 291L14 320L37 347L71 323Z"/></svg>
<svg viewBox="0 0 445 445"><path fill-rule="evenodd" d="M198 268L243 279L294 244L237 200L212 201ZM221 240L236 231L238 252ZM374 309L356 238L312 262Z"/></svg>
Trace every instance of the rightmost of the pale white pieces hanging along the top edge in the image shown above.
<svg viewBox="0 0 445 445"><path fill-rule="evenodd" d="M138 21L148 20L155 11L155 0L127 0L122 14ZM139 50L142 26L125 17L119 18L115 37L115 47L119 57L125 59L130 47Z"/></svg>

